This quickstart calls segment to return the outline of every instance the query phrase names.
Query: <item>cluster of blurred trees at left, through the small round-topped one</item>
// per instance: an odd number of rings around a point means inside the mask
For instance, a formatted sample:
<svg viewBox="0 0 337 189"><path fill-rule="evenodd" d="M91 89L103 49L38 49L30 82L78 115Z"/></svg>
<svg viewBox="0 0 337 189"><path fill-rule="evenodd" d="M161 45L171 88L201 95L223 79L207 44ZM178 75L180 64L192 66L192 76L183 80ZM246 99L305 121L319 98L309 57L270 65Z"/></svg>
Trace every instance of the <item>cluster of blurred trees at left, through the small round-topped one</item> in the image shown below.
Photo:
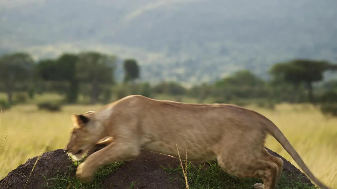
<svg viewBox="0 0 337 189"><path fill-rule="evenodd" d="M0 85L9 103L17 90L66 92L66 102L76 103L81 84L90 87L90 103L97 103L102 87L114 85L117 58L95 51L63 53L56 59L33 60L27 52L0 57ZM124 61L124 82L139 77L134 59Z"/></svg>

